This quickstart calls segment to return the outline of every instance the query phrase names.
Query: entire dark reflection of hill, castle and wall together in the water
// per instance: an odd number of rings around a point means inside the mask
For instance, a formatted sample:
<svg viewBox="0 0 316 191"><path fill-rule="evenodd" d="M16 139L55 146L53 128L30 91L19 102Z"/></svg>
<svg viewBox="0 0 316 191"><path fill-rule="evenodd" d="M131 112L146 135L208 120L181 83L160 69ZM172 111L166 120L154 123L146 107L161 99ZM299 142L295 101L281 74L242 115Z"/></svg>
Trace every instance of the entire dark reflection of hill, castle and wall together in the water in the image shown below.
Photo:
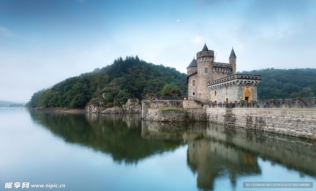
<svg viewBox="0 0 316 191"><path fill-rule="evenodd" d="M298 171L301 177L316 177L314 141L202 122L141 121L139 114L30 113L34 122L66 142L111 154L119 163L137 164L188 145L187 166L203 190L215 189L220 177L228 177L236 187L239 177L262 175L261 159Z"/></svg>

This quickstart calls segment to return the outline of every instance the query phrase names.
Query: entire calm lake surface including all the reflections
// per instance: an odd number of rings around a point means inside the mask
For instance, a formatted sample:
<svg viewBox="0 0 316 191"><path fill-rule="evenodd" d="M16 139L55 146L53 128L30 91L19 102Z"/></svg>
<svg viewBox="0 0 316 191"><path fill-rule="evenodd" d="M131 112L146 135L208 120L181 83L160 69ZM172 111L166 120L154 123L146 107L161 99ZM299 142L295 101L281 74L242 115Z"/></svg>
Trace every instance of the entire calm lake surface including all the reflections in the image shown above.
<svg viewBox="0 0 316 191"><path fill-rule="evenodd" d="M243 182L313 182L316 143L210 123L145 122L140 115L0 108L0 190L288 190ZM24 188L12 188L23 190Z"/></svg>

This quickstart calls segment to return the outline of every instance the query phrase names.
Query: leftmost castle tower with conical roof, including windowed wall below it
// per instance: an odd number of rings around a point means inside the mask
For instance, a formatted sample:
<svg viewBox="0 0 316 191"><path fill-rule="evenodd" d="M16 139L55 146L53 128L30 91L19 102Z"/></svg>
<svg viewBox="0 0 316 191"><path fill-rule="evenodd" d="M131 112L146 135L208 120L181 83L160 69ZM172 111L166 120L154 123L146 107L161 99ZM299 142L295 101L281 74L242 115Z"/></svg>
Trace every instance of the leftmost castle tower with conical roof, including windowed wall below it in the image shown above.
<svg viewBox="0 0 316 191"><path fill-rule="evenodd" d="M197 61L193 58L187 69L186 84L188 84L189 99L197 94ZM190 98L191 97L191 98Z"/></svg>

